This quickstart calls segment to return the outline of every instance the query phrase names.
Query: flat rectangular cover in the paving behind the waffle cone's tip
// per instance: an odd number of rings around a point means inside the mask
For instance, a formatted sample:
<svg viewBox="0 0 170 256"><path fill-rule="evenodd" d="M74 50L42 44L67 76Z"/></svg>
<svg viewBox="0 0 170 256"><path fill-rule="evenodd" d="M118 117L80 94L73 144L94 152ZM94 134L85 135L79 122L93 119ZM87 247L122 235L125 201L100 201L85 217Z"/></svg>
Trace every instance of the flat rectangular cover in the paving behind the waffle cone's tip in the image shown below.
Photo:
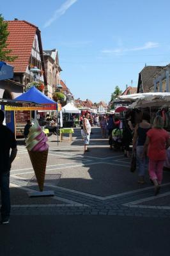
<svg viewBox="0 0 170 256"><path fill-rule="evenodd" d="M57 186L59 183L59 179L61 178L61 174L45 174L44 186L54 185ZM27 182L27 186L37 186L36 176L33 175L31 180Z"/></svg>

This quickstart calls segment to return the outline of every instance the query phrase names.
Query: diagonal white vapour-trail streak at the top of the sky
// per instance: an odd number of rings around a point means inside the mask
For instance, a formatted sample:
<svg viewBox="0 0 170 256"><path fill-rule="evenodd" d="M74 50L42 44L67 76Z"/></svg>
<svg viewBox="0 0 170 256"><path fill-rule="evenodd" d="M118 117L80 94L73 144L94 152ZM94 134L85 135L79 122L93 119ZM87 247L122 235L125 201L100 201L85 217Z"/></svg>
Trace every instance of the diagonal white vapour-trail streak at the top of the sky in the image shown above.
<svg viewBox="0 0 170 256"><path fill-rule="evenodd" d="M47 20L47 22L45 22L43 27L49 27L52 22L58 19L61 15L65 14L66 10L68 10L76 2L77 0L67 0L65 3L63 3L61 7L54 12L54 15L49 20Z"/></svg>

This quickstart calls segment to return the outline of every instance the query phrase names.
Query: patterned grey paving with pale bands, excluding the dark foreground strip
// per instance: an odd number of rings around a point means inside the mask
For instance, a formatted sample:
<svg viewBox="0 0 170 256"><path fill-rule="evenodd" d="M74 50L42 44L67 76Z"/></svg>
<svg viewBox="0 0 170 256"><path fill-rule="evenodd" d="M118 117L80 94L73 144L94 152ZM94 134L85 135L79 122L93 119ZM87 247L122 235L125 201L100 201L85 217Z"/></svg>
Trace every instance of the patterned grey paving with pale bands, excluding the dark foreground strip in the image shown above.
<svg viewBox="0 0 170 256"><path fill-rule="evenodd" d="M75 129L72 143L56 142L49 137L49 156L45 190L55 196L29 198L28 191L38 189L31 161L22 141L10 178L13 215L102 214L118 216L170 217L170 172L164 172L160 194L153 196L153 186L137 184L137 173L130 173L130 160L122 152L109 150L100 129L93 128L90 152L84 153L80 129Z"/></svg>

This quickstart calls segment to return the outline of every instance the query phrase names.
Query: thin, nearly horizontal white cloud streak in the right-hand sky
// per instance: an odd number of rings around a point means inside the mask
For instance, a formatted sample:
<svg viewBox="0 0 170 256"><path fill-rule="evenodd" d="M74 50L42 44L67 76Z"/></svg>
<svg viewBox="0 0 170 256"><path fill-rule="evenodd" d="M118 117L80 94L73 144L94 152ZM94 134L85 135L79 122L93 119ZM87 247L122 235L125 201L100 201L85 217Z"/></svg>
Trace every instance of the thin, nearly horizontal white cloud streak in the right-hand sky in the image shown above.
<svg viewBox="0 0 170 256"><path fill-rule="evenodd" d="M133 51L143 51L147 49L153 49L159 47L159 44L156 42L146 42L141 47L134 47L134 48L117 48L117 49L109 49L102 51L103 53L123 53L123 52L133 52Z"/></svg>

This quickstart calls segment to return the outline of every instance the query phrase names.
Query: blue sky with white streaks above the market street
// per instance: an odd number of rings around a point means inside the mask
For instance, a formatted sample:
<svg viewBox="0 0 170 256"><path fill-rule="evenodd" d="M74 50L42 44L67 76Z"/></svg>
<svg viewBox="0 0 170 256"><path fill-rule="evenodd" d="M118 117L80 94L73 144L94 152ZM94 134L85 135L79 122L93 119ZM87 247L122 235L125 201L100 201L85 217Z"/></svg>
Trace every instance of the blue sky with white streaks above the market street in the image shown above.
<svg viewBox="0 0 170 256"><path fill-rule="evenodd" d="M146 65L170 59L170 1L6 0L4 19L27 20L42 31L43 49L58 49L75 98L108 102L116 85L137 86Z"/></svg>

